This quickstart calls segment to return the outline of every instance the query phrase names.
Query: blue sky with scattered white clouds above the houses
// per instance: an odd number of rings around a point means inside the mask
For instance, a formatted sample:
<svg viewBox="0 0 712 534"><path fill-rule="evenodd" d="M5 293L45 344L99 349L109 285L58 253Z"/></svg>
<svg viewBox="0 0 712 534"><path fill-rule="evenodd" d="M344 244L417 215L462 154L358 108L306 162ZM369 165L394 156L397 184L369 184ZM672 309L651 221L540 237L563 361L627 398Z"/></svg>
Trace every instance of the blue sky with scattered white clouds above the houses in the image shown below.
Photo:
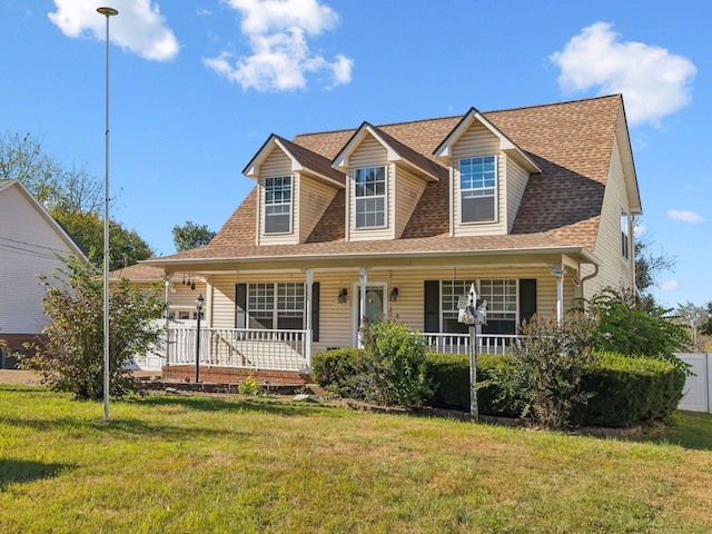
<svg viewBox="0 0 712 534"><path fill-rule="evenodd" d="M3 0L0 129L103 177L110 19L112 218L159 255L218 230L275 132L622 92L657 298L712 300L709 0Z"/></svg>

